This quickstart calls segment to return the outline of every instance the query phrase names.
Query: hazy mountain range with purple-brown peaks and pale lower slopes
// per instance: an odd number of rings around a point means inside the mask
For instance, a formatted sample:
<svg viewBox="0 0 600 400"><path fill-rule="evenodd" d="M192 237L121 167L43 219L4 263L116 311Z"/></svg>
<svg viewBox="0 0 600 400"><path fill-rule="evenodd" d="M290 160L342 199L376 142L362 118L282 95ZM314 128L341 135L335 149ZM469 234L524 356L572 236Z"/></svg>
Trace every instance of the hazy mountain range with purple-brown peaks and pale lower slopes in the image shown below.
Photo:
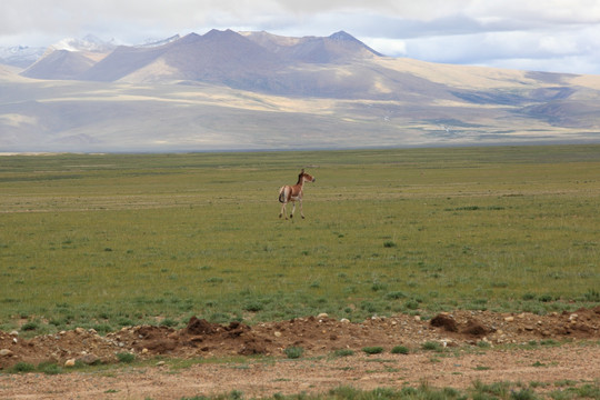
<svg viewBox="0 0 600 400"><path fill-rule="evenodd" d="M27 68L0 64L0 151L587 142L599 133L599 76L390 58L343 31L211 30L141 46L87 37Z"/></svg>

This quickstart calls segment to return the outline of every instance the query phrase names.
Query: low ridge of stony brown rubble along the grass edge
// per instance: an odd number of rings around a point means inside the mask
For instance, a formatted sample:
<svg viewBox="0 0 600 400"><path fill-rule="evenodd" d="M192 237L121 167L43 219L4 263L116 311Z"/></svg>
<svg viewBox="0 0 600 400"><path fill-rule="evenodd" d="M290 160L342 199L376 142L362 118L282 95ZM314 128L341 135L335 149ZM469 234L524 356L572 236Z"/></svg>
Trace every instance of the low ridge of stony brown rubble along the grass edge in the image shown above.
<svg viewBox="0 0 600 400"><path fill-rule="evenodd" d="M540 339L599 339L600 307L576 312L537 316L532 313L493 313L456 311L440 313L430 321L398 314L372 318L360 323L338 321L326 314L289 321L248 326L210 323L192 317L179 330L140 326L123 328L106 337L81 328L56 334L22 339L0 332L0 369L23 361L64 363L114 362L117 354L134 353L139 358L164 354L177 358L223 357L231 354L283 356L288 347L301 347L306 354L324 354L339 349L360 350L369 346L391 349L403 344L419 348L427 341L451 346L522 343Z"/></svg>

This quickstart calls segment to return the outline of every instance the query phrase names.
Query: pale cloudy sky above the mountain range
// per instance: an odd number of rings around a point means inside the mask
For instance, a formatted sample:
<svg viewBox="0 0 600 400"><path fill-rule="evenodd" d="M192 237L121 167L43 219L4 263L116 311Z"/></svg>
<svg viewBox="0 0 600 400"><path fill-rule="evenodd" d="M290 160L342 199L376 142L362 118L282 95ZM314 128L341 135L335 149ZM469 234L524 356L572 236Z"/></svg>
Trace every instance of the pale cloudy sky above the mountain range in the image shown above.
<svg viewBox="0 0 600 400"><path fill-rule="evenodd" d="M388 56L600 73L600 0L1 0L0 46L122 44L210 29L329 36Z"/></svg>

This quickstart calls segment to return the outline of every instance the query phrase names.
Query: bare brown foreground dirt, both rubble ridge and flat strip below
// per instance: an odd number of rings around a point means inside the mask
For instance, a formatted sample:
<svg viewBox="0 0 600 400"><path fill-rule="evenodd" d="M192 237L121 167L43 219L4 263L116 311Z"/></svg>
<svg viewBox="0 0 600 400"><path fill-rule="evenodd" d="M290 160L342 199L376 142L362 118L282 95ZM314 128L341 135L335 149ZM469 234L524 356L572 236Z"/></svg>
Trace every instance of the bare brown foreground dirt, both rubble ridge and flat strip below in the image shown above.
<svg viewBox="0 0 600 400"><path fill-rule="evenodd" d="M457 311L429 321L399 314L362 323L322 314L252 327L237 322L212 324L192 318L180 330L142 326L101 337L93 330L76 329L30 340L14 332L0 332L0 369L18 362L112 363L123 352L156 361L151 367L123 367L109 372L90 369L92 372L57 376L0 374L0 398L181 399L232 390L244 397L271 397L323 392L339 386L374 389L428 382L433 387L467 388L477 380L598 384L599 339L600 307L543 317ZM531 341L538 346L527 350L506 346ZM426 342L436 342L446 351L421 350ZM549 346L558 342L561 344ZM373 346L382 347L384 352L367 356L361 351ZM396 346L411 352L390 353ZM287 359L284 350L290 347L302 348L302 359ZM340 349L351 349L354 356L331 357ZM240 356L252 354L270 357L243 357L239 361ZM203 362L177 370L169 362L231 356L237 357L236 361Z"/></svg>

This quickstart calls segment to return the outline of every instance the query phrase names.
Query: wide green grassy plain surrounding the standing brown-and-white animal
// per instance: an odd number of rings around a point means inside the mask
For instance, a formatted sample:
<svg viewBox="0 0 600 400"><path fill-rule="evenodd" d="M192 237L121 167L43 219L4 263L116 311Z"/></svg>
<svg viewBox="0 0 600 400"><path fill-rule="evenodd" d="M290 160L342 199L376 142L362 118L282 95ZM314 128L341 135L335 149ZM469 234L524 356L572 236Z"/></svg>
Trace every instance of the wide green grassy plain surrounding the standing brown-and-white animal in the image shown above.
<svg viewBox="0 0 600 400"><path fill-rule="evenodd" d="M1 157L0 329L589 307L599 200L600 146Z"/></svg>

